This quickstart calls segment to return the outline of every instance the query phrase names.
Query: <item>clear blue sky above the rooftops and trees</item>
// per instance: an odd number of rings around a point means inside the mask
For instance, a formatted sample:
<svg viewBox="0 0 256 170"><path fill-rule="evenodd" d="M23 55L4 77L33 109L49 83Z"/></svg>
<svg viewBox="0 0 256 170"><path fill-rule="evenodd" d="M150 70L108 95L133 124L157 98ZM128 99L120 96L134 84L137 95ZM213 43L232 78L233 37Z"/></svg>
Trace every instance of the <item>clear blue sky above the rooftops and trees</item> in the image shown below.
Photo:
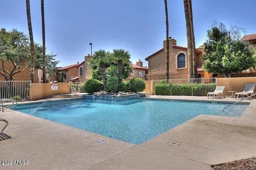
<svg viewBox="0 0 256 170"><path fill-rule="evenodd" d="M169 36L187 46L183 0L167 0ZM166 37L164 0L44 0L46 47L57 53L58 66L84 60L84 55L105 49L130 51L132 63L163 48ZM196 47L216 19L256 34L256 0L192 0ZM42 44L40 0L30 0L34 42ZM28 34L26 0L1 0L0 28Z"/></svg>

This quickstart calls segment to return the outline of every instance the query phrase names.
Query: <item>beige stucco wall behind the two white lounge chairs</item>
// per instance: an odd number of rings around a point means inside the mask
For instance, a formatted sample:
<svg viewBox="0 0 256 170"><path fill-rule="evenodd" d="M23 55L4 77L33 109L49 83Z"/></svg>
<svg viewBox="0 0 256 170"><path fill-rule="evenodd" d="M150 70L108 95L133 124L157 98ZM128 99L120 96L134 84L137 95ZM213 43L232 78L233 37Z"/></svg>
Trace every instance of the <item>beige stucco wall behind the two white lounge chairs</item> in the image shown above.
<svg viewBox="0 0 256 170"><path fill-rule="evenodd" d="M256 77L217 78L216 80L217 86L225 86L224 92L227 96L231 96L231 92L228 91L243 91L246 83L256 83Z"/></svg>

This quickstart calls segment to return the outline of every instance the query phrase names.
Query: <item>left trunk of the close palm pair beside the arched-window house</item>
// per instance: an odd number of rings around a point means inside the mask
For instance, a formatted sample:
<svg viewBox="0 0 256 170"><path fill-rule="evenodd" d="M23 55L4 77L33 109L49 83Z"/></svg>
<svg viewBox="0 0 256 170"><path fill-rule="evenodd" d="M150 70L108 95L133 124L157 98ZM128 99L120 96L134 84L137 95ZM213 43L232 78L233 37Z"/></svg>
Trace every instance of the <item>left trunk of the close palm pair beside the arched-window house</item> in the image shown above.
<svg viewBox="0 0 256 170"><path fill-rule="evenodd" d="M191 30L190 30L190 19L189 19L189 8L188 0L183 0L185 18L186 18L186 30L187 30L187 42L188 42L188 78L193 78L193 51L192 51L192 41L191 41Z"/></svg>

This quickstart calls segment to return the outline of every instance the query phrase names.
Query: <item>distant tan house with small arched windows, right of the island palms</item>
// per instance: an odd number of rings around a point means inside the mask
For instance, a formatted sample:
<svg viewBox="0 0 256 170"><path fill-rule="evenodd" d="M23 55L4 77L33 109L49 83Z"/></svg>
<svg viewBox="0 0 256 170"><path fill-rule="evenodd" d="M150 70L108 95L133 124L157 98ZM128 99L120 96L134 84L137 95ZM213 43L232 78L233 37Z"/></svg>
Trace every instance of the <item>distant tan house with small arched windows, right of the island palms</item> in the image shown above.
<svg viewBox="0 0 256 170"><path fill-rule="evenodd" d="M148 80L148 67L143 67L143 62L137 61L136 64L130 64L132 67L132 74L125 80L131 80L133 78L141 78L142 80Z"/></svg>

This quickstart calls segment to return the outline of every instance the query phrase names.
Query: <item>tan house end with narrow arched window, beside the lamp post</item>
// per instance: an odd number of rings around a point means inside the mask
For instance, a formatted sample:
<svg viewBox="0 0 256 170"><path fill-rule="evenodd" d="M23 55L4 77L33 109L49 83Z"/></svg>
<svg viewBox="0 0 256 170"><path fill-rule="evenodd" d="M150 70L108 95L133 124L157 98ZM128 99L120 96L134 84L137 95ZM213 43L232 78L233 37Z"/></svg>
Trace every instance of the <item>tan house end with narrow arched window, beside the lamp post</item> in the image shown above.
<svg viewBox="0 0 256 170"><path fill-rule="evenodd" d="M76 66L78 70L77 75L78 75L79 82L85 82L88 79L90 79L91 70L90 70L90 65L88 64L90 57L91 57L90 54L88 54L87 56L84 56L84 61L78 66Z"/></svg>

